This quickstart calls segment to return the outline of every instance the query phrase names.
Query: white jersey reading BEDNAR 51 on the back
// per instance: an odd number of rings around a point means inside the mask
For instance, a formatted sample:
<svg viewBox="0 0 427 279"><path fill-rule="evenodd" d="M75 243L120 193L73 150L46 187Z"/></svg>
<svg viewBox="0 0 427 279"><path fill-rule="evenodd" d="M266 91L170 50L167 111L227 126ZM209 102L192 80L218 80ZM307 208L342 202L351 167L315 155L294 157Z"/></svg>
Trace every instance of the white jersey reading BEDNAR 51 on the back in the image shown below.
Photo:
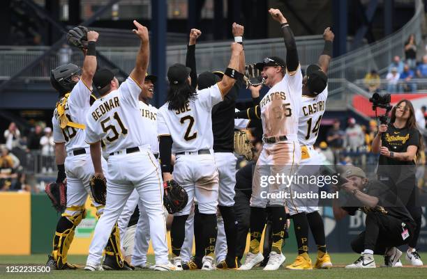
<svg viewBox="0 0 427 279"><path fill-rule="evenodd" d="M108 154L126 148L149 148L150 136L141 125L138 95L141 86L132 77L117 90L97 99L87 113L87 143L103 140Z"/></svg>

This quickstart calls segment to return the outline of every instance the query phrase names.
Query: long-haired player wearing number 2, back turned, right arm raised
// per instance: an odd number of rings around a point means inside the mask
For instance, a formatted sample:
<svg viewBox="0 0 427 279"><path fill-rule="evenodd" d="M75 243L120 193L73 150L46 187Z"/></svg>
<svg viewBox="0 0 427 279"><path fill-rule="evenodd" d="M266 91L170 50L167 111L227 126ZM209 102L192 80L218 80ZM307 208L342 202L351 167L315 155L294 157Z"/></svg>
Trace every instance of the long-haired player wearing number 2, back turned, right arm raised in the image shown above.
<svg viewBox="0 0 427 279"><path fill-rule="evenodd" d="M170 90L167 102L158 110L160 164L163 180L172 180L170 154L177 157L173 179L188 193L186 207L174 214L171 228L172 255L175 264L184 240L185 223L196 197L203 224L205 256L202 269L215 269L213 251L216 244L216 206L218 205L218 171L213 157L211 109L242 74L237 71L242 45L232 44L232 57L222 81L204 90L190 87L190 68L172 65L167 77Z"/></svg>

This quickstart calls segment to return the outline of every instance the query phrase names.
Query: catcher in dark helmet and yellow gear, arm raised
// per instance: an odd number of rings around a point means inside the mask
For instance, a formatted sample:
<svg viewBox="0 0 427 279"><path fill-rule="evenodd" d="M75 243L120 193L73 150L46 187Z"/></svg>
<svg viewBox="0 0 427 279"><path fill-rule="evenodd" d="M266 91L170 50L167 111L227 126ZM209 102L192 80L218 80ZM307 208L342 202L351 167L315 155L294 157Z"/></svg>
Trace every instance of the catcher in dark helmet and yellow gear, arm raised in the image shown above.
<svg viewBox="0 0 427 279"><path fill-rule="evenodd" d="M52 70L51 83L62 97L52 118L55 142L55 160L58 165L57 183L66 180L67 207L59 218L53 240L52 255L47 265L55 269L75 269L67 263L67 253L74 238L75 228L86 216L84 203L91 193L89 180L93 164L89 145L84 141L86 111L91 102L91 84L96 71L95 44L98 33L88 31L88 50L84 56L83 69L74 64L61 65ZM80 76L81 74L81 76ZM92 96L93 97L93 96ZM106 168L106 161L102 161ZM99 216L103 205L92 201Z"/></svg>

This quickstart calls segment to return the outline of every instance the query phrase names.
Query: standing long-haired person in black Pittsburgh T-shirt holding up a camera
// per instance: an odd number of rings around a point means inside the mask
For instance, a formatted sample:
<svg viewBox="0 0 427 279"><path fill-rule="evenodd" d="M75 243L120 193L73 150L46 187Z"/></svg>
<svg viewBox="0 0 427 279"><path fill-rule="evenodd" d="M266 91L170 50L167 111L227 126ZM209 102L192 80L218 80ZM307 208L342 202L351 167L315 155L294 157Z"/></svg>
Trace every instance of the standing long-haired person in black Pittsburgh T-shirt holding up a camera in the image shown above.
<svg viewBox="0 0 427 279"><path fill-rule="evenodd" d="M390 187L410 212L416 223L414 234L408 244L406 260L413 266L422 266L417 253L417 241L421 228L421 206L415 179L415 160L422 145L416 121L414 106L403 99L391 110L388 125L382 123L373 139L372 151L380 153L377 175L381 182Z"/></svg>

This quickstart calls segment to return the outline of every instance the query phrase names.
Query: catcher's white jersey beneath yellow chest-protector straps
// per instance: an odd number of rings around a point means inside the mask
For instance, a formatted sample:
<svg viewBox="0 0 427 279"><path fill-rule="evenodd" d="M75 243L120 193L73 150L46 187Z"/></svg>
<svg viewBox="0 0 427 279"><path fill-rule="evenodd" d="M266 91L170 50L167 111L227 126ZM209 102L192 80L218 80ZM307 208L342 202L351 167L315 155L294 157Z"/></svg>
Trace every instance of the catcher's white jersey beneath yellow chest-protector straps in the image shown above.
<svg viewBox="0 0 427 279"><path fill-rule="evenodd" d="M80 124L86 123L86 113L89 107L91 98L91 90L82 79L77 82L70 96L67 99L65 106L65 114L68 120ZM77 129L74 127L65 127L61 129L59 125L59 115L57 109L54 110L52 117L53 137L55 143L65 143L67 152L82 148L89 148L89 145L84 141L86 129Z"/></svg>

